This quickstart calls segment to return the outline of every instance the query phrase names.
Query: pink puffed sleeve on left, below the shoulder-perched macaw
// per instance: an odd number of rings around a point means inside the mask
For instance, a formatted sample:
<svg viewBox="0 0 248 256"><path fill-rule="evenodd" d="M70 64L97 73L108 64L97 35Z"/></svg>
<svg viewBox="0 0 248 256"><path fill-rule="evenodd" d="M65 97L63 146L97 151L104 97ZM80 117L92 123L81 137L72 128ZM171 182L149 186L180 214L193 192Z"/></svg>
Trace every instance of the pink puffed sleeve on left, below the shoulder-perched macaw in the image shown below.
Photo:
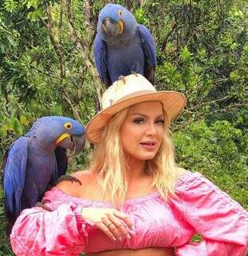
<svg viewBox="0 0 248 256"><path fill-rule="evenodd" d="M49 203L46 204L49 206ZM79 255L87 242L87 222L72 202L53 211L33 207L22 211L10 234L16 255Z"/></svg>

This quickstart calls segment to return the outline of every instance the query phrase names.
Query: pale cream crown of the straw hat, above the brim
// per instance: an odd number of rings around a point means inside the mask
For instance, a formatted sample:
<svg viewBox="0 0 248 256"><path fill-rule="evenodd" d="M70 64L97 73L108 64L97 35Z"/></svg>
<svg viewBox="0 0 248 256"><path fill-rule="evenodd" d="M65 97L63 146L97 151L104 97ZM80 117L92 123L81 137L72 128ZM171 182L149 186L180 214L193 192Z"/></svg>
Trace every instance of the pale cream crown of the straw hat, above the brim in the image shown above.
<svg viewBox="0 0 248 256"><path fill-rule="evenodd" d="M103 110L112 106L121 99L132 97L134 94L144 94L149 91L156 92L155 87L144 76L130 74L120 77L112 86L108 87L102 97Z"/></svg>

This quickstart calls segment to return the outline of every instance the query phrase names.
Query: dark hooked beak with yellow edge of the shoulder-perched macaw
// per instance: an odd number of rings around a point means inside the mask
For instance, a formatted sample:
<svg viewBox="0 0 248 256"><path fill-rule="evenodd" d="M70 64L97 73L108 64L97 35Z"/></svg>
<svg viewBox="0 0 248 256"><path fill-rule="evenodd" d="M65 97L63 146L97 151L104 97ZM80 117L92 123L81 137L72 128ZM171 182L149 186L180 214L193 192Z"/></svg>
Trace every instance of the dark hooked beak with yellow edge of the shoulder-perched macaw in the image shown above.
<svg viewBox="0 0 248 256"><path fill-rule="evenodd" d="M72 151L72 153L69 154L69 157L72 157L81 152L81 150L84 148L85 134L81 136L63 134L57 140L56 146Z"/></svg>

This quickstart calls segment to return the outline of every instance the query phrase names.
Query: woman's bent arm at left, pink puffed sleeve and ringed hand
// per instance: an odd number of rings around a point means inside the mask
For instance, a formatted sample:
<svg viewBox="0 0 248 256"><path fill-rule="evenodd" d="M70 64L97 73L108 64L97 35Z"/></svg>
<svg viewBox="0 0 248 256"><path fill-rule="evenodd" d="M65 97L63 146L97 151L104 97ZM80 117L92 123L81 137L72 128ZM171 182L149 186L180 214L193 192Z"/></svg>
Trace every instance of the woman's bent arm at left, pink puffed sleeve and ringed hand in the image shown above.
<svg viewBox="0 0 248 256"><path fill-rule="evenodd" d="M15 222L10 235L15 254L79 254L85 250L88 230L95 228L110 239L116 240L120 234L128 238L132 222L118 210L77 206L69 198L61 198L56 190L46 192L43 202L52 211L26 209Z"/></svg>

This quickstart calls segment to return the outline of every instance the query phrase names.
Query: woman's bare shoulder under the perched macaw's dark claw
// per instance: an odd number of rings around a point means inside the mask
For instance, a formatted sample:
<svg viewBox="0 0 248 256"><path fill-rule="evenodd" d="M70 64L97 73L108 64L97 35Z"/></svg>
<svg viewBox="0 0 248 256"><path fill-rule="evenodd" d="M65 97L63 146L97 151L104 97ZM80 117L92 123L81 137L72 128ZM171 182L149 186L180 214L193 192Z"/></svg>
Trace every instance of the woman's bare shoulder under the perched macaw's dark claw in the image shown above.
<svg viewBox="0 0 248 256"><path fill-rule="evenodd" d="M62 181L59 182L56 187L65 192L65 194L84 197L83 191L87 190L90 186L93 186L93 181L95 180L96 175L93 174L91 170L80 170L70 175L77 178L79 182Z"/></svg>

